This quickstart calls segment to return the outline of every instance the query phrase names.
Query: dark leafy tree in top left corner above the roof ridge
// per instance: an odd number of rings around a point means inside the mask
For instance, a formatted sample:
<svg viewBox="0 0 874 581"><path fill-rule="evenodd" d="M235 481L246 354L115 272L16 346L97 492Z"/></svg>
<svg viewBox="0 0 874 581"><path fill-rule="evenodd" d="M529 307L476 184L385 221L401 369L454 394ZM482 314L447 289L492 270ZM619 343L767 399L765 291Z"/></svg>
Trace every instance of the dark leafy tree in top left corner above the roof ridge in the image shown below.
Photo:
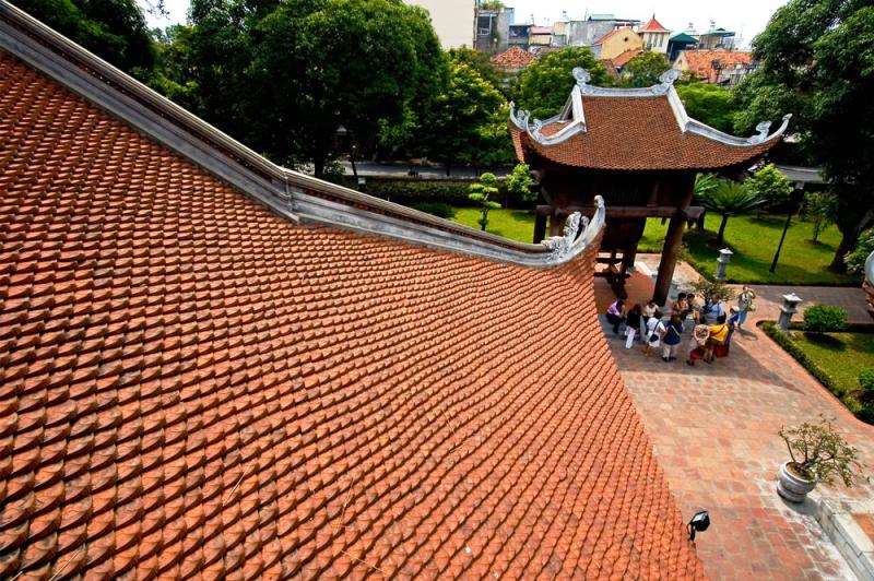
<svg viewBox="0 0 874 581"><path fill-rule="evenodd" d="M12 0L98 57L141 80L151 78L156 51L135 0Z"/></svg>

